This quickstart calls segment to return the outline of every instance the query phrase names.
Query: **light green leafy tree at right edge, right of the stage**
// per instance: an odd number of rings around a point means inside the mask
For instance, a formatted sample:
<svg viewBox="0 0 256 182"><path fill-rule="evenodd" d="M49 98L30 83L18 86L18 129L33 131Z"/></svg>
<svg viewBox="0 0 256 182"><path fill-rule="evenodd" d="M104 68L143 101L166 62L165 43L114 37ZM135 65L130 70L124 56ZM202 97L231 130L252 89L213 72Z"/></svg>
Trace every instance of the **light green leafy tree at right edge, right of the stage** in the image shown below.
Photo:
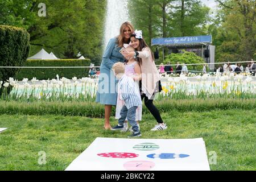
<svg viewBox="0 0 256 182"><path fill-rule="evenodd" d="M210 26L217 32L218 61L249 61L256 52L256 2L253 0L218 0L218 20Z"/></svg>

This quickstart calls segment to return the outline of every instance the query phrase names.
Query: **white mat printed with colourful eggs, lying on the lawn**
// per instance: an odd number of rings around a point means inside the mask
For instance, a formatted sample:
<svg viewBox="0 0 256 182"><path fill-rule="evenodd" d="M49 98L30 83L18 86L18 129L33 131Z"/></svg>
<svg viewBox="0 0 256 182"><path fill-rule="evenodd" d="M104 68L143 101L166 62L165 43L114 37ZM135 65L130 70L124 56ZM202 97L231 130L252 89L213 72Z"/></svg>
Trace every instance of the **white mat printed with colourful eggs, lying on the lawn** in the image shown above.
<svg viewBox="0 0 256 182"><path fill-rule="evenodd" d="M96 138L65 171L209 171L203 138Z"/></svg>

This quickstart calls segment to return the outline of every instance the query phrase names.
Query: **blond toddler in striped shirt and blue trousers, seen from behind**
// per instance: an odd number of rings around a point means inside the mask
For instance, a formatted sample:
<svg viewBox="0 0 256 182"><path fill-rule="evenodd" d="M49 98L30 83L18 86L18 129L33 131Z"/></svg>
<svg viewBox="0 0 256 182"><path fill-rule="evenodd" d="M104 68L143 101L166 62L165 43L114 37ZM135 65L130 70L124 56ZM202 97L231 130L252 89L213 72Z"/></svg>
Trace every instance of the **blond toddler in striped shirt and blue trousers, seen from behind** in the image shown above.
<svg viewBox="0 0 256 182"><path fill-rule="evenodd" d="M123 63L115 63L112 69L115 77L119 80L120 99L125 102L120 112L121 117L118 119L118 125L113 127L112 130L122 130L127 117L133 130L133 134L129 135L128 138L141 137L141 131L135 120L137 107L142 105L141 94L138 89L135 89L136 85L133 78L125 75L125 65Z"/></svg>

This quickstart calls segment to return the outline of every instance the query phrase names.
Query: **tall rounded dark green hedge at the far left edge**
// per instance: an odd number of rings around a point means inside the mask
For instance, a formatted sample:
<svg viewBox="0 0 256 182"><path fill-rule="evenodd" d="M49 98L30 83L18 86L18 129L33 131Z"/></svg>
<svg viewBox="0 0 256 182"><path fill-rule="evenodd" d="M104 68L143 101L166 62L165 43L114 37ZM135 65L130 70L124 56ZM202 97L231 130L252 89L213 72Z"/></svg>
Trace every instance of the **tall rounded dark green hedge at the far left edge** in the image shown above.
<svg viewBox="0 0 256 182"><path fill-rule="evenodd" d="M0 66L22 67L29 51L30 34L25 29L0 25ZM0 68L0 81L15 77L18 71L16 68Z"/></svg>

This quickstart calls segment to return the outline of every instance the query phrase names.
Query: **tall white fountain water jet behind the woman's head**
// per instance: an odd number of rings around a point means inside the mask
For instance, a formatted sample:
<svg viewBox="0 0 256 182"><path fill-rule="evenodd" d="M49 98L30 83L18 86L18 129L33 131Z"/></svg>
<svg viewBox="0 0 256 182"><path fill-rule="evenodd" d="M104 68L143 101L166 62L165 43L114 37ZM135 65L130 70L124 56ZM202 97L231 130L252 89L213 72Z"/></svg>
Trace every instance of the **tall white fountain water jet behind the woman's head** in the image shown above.
<svg viewBox="0 0 256 182"><path fill-rule="evenodd" d="M108 0L105 22L105 47L108 44L109 39L119 35L121 24L129 20L127 9L128 1L129 0Z"/></svg>

